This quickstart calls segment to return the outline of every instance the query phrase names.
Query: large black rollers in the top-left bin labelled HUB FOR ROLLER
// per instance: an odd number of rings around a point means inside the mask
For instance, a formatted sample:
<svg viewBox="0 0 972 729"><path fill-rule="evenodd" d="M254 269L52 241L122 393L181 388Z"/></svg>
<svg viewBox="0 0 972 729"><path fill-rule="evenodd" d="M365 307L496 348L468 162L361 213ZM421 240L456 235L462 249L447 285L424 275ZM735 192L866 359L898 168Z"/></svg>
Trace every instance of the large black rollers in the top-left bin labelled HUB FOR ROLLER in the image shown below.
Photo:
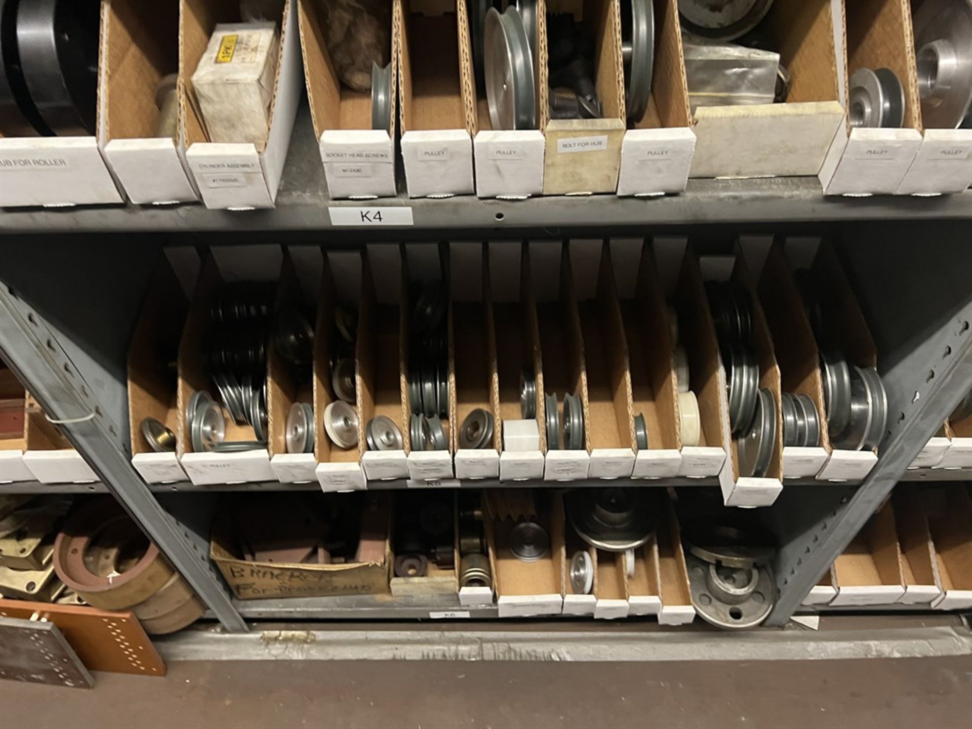
<svg viewBox="0 0 972 729"><path fill-rule="evenodd" d="M0 134L95 133L98 0L0 2Z"/></svg>

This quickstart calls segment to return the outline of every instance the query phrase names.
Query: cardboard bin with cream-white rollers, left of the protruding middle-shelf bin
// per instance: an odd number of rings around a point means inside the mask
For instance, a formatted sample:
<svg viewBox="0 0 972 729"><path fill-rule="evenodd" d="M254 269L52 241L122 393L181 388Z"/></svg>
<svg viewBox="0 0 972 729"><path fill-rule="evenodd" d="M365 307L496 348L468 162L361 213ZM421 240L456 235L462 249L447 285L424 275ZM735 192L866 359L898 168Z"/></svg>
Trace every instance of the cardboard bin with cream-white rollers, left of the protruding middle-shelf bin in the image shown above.
<svg viewBox="0 0 972 729"><path fill-rule="evenodd" d="M678 335L688 355L689 390L698 399L702 421L699 445L682 444L678 473L689 477L712 476L721 472L728 461L735 480L737 469L729 434L725 370L699 261L691 249L686 249L682 259L675 304Z"/></svg>

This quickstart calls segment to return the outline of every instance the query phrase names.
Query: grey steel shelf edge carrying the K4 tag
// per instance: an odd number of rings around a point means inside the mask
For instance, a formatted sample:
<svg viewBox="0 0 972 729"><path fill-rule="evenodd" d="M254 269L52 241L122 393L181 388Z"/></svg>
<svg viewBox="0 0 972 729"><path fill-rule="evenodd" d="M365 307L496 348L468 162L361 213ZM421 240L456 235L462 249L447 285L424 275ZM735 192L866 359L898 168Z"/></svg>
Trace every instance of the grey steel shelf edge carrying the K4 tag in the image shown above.
<svg viewBox="0 0 972 729"><path fill-rule="evenodd" d="M5 210L4 233L189 232L218 230L343 230L334 228L332 207L409 207L412 229L498 231L544 228L685 226L692 224L797 224L836 221L972 219L972 191L937 197L824 196L816 177L690 180L682 194L657 197L615 195L534 197L526 200L410 199L330 200L310 115L296 120L284 176L272 210L208 210L201 204L79 206ZM364 228L366 230L367 228ZM380 231L394 229L382 226ZM373 234L373 233L372 233Z"/></svg>

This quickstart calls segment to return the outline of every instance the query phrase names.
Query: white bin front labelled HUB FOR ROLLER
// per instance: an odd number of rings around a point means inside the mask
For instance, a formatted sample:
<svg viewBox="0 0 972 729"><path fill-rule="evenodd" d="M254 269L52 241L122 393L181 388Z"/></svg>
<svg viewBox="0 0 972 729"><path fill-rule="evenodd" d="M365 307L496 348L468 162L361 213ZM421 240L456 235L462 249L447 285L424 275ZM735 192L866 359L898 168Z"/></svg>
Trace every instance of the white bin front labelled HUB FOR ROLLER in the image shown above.
<svg viewBox="0 0 972 729"><path fill-rule="evenodd" d="M0 207L122 202L94 137L0 139Z"/></svg>

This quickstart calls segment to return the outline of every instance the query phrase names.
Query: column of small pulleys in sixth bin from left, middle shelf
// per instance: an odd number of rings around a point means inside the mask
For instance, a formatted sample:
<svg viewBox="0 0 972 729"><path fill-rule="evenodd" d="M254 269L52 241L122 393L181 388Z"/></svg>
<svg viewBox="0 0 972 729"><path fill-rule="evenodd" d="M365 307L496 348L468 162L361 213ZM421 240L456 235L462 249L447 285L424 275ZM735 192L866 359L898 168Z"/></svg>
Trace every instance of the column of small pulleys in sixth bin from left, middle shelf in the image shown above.
<svg viewBox="0 0 972 729"><path fill-rule="evenodd" d="M448 450L442 419L449 416L449 292L442 281L431 281L418 287L413 300L408 347L409 438L412 450Z"/></svg>

